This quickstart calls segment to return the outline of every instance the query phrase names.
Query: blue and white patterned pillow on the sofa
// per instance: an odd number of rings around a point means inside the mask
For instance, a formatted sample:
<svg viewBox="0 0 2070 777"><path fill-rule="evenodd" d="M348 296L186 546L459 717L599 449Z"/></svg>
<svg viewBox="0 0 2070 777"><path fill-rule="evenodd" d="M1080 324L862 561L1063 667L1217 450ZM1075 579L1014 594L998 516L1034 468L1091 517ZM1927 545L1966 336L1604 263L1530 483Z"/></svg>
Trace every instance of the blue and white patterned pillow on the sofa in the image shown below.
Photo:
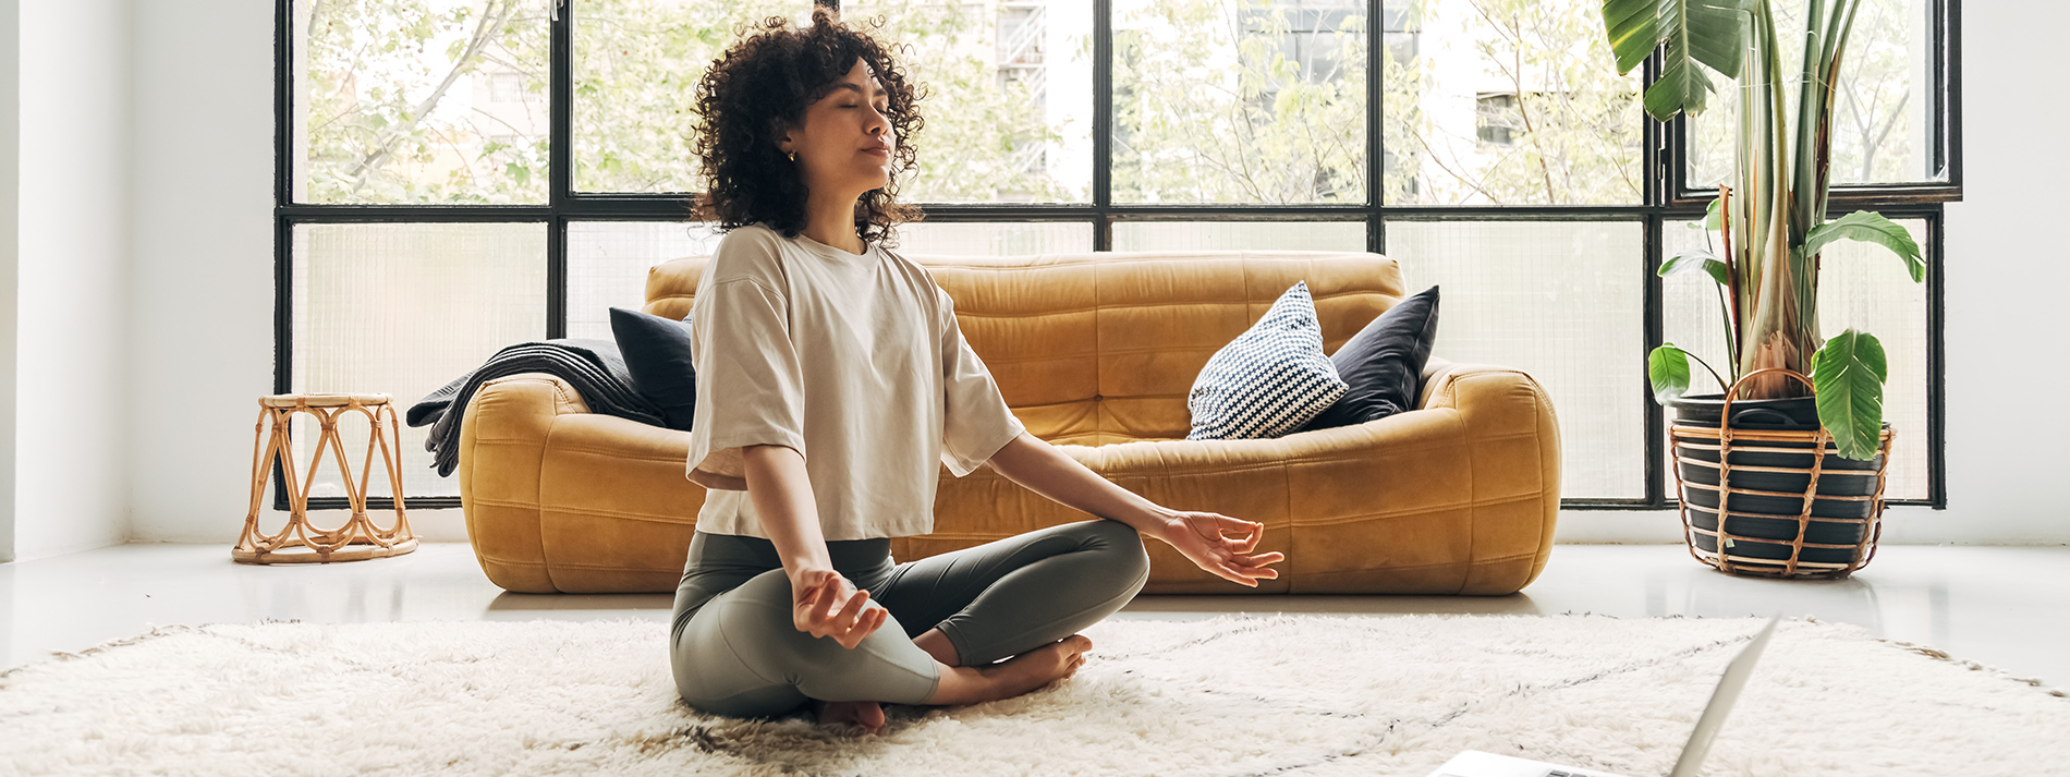
<svg viewBox="0 0 2070 777"><path fill-rule="evenodd" d="M1186 392L1186 439L1279 437L1346 392L1337 365L1323 354L1323 325L1302 280L1201 369Z"/></svg>

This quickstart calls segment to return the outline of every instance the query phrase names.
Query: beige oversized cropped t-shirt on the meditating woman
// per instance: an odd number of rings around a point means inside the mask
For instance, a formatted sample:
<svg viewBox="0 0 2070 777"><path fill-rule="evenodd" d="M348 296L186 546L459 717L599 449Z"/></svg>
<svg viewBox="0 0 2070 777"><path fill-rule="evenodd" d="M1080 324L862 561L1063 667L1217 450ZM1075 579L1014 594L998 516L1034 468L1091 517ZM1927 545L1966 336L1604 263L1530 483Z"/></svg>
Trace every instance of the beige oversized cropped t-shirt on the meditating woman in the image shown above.
<svg viewBox="0 0 2070 777"><path fill-rule="evenodd" d="M940 466L965 477L1014 419L934 276L876 242L855 255L764 224L735 228L691 300L698 528L768 539L741 445L805 458L828 541L934 530Z"/></svg>

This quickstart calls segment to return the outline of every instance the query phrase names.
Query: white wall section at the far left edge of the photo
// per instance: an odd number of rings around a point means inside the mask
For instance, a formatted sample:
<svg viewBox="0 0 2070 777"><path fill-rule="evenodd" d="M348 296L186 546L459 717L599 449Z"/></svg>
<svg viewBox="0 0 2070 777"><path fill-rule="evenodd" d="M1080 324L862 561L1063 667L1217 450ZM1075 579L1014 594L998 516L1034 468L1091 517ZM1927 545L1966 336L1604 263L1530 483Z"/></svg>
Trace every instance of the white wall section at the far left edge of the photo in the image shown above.
<svg viewBox="0 0 2070 777"><path fill-rule="evenodd" d="M128 539L130 4L19 6L14 555Z"/></svg>

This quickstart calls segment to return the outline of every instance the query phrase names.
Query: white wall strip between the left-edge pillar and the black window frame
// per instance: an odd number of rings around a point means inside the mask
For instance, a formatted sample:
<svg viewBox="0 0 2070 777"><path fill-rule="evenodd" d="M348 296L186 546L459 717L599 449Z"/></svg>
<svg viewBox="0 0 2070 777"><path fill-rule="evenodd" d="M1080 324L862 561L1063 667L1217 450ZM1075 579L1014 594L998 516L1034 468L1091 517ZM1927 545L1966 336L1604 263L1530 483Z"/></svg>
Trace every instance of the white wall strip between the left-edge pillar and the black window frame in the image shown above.
<svg viewBox="0 0 2070 777"><path fill-rule="evenodd" d="M259 398L273 394L273 4L135 12L137 234L149 238L128 286L132 526L228 555L250 503Z"/></svg>

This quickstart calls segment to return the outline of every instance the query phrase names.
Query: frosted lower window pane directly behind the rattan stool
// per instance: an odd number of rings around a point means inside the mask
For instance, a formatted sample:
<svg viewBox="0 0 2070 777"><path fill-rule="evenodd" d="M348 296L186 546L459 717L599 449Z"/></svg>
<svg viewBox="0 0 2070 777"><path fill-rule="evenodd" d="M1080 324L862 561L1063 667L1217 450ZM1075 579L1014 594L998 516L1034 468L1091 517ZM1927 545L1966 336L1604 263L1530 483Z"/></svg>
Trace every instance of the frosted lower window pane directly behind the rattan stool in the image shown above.
<svg viewBox="0 0 2070 777"><path fill-rule="evenodd" d="M387 394L402 419L503 346L546 336L544 224L296 224L292 251L294 392ZM302 472L317 431L294 429ZM431 468L426 431L402 427L404 493L460 495ZM358 479L364 421L344 433ZM335 464L325 460L310 495L346 495ZM366 493L391 495L379 452L373 466Z"/></svg>

